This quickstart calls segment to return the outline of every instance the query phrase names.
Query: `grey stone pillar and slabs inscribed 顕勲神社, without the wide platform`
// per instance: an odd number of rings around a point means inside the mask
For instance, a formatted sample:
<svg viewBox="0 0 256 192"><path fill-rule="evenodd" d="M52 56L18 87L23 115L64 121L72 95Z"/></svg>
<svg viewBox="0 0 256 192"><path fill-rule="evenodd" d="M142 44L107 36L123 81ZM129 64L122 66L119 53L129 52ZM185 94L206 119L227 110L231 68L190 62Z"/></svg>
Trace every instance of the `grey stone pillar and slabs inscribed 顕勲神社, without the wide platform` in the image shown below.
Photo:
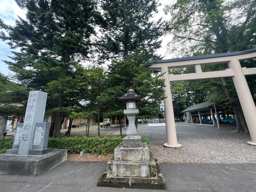
<svg viewBox="0 0 256 192"><path fill-rule="evenodd" d="M46 98L45 92L29 92L24 123L18 124L13 147L7 154L42 155L51 151L47 148L50 123L43 122Z"/></svg>

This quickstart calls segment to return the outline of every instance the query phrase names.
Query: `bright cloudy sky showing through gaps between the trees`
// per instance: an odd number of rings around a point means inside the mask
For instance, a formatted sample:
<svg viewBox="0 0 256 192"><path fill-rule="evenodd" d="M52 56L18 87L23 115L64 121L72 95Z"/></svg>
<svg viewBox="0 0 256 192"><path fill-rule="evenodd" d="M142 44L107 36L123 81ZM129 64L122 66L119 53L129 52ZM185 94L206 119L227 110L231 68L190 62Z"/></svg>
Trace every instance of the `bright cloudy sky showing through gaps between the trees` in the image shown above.
<svg viewBox="0 0 256 192"><path fill-rule="evenodd" d="M162 6L160 6L159 13L154 16L154 20L157 20L160 17L164 19L168 19L163 12L163 8L165 4L169 4L170 0L160 0ZM26 11L19 8L16 4L15 0L0 0L0 18L4 21L4 23L9 25L15 25L15 20L20 16L21 18L26 18ZM157 53L164 56L164 58L172 58L171 54L167 53L166 44L170 41L170 36L162 37L162 48L160 48ZM0 40L0 72L2 74L8 75L10 70L8 70L8 66L2 60L10 60L8 56L12 56L10 46Z"/></svg>

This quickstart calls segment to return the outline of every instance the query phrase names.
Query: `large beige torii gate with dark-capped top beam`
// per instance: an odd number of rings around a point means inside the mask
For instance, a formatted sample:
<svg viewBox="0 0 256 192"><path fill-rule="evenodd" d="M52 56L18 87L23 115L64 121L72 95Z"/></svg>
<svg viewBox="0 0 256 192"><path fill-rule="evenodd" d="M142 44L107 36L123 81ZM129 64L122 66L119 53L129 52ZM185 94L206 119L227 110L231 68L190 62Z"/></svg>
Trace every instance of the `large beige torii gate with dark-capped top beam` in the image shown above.
<svg viewBox="0 0 256 192"><path fill-rule="evenodd" d="M251 58L256 58L256 49L177 59L158 60L154 62L152 66L150 66L152 69L160 69L161 73L163 74L162 78L165 80L166 85L164 88L166 94L166 98L164 99L164 114L167 136L167 143L164 144L165 147L178 148L182 146L177 142L170 81L198 80L221 77L233 78L236 92L238 94L244 117L250 131L250 136L252 138L252 141L247 143L256 146L256 107L245 78L245 75L256 74L256 68L242 68L240 65L240 61L248 60ZM201 69L201 64L207 65L226 63L228 64L229 68L222 71L202 72ZM194 66L196 73L178 75L169 74L169 68L186 66Z"/></svg>

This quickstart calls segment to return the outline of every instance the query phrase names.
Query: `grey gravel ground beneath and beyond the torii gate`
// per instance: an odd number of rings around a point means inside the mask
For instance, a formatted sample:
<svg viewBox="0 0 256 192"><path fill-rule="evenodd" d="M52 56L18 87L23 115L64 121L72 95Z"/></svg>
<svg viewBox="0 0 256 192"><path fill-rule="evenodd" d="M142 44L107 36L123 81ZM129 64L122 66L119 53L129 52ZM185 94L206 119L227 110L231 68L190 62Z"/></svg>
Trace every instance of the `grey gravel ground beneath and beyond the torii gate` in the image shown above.
<svg viewBox="0 0 256 192"><path fill-rule="evenodd" d="M150 139L150 151L159 162L169 163L256 163L256 147L248 145L250 134L234 132L234 126L200 126L176 123L180 149L164 148L165 127L140 124L140 135Z"/></svg>

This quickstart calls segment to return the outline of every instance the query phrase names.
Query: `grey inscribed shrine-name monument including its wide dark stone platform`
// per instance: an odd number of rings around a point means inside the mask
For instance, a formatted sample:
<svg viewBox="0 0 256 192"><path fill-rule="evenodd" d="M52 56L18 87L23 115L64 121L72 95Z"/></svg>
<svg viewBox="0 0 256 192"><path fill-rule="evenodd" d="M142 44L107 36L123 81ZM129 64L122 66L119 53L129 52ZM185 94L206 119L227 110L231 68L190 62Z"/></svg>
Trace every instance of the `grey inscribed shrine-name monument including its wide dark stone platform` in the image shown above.
<svg viewBox="0 0 256 192"><path fill-rule="evenodd" d="M46 99L46 92L29 92L24 123L17 125L12 149L0 155L0 174L38 175L67 159L67 150L47 147L50 122L43 122Z"/></svg>

